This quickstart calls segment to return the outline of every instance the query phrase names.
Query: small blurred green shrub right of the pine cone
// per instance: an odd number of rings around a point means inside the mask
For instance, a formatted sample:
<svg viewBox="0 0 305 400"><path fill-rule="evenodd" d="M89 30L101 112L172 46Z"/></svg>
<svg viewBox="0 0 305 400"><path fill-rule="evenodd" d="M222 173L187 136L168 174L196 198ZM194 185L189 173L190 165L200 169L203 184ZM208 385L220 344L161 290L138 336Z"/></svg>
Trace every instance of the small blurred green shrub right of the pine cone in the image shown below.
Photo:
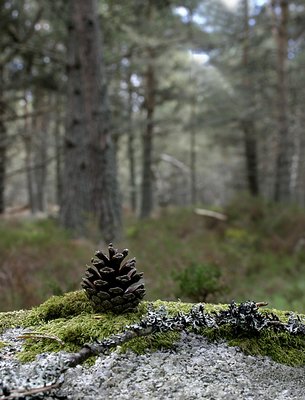
<svg viewBox="0 0 305 400"><path fill-rule="evenodd" d="M195 302L205 302L209 296L221 291L220 278L220 268L214 264L191 264L174 275L179 287L178 296Z"/></svg>

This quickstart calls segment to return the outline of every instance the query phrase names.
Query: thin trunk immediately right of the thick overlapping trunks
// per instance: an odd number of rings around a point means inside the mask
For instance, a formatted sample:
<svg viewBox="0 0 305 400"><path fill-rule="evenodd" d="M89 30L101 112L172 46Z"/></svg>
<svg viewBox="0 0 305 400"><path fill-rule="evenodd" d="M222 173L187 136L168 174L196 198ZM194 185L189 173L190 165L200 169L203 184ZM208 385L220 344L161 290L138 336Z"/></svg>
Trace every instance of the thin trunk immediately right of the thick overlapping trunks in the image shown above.
<svg viewBox="0 0 305 400"><path fill-rule="evenodd" d="M131 71L128 74L128 161L129 161L129 199L133 213L137 209L137 188L135 172L135 148L134 148L134 127L133 127L133 86L131 82Z"/></svg>

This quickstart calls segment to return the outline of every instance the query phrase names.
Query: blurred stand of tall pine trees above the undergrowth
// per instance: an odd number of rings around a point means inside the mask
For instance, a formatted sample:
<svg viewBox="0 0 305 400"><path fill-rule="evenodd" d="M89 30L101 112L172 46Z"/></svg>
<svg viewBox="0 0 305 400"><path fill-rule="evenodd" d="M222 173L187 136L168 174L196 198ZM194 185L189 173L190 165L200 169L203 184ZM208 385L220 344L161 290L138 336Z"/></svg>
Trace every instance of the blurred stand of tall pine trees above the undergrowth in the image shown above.
<svg viewBox="0 0 305 400"><path fill-rule="evenodd" d="M0 6L0 213L110 241L122 206L305 205L303 1Z"/></svg>

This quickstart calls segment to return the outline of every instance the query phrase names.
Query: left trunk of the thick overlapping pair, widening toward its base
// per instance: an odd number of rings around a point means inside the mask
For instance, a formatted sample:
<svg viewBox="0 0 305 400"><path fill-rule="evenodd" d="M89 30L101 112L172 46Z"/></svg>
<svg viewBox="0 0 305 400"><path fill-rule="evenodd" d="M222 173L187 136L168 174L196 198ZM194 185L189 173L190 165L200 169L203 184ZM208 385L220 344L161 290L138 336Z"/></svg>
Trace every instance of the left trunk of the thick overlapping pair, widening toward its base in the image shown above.
<svg viewBox="0 0 305 400"><path fill-rule="evenodd" d="M86 234L86 220L92 212L88 162L88 132L85 123L81 65L76 37L74 0L70 0L67 54L67 117L64 138L63 191L60 220L74 234ZM75 12L75 10L74 10Z"/></svg>

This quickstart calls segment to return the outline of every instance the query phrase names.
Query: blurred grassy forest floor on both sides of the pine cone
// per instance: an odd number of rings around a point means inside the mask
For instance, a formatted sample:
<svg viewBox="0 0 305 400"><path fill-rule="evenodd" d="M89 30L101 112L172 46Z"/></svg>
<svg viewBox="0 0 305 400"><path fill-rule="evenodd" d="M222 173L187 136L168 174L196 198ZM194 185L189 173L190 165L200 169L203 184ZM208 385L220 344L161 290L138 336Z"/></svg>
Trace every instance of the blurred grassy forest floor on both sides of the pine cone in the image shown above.
<svg viewBox="0 0 305 400"><path fill-rule="evenodd" d="M144 221L126 217L124 240L114 245L137 258L146 299L251 299L304 313L304 210L243 197L221 211L226 221L192 209L168 209ZM29 308L78 289L85 265L101 247L97 242L94 229L87 240L73 240L54 219L0 220L0 311ZM202 282L211 269L219 275L198 292L196 280ZM186 270L197 275L180 287Z"/></svg>

